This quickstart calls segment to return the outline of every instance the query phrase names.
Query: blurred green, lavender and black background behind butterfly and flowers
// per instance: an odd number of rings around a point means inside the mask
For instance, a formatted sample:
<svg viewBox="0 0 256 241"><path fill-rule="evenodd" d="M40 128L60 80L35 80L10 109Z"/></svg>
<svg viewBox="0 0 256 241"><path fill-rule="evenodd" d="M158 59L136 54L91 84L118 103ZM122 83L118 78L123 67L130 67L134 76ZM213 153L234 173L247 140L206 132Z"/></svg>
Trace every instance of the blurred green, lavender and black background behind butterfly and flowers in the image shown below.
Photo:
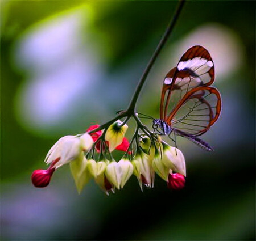
<svg viewBox="0 0 256 241"><path fill-rule="evenodd" d="M255 239L254 1L187 2L141 92L138 111L158 117L181 54L212 55L223 109L203 139L215 151L178 140L183 191L156 177L141 192L132 177L109 197L94 181L79 196L68 165L32 187L57 139L127 107L176 3L1 1L1 240Z"/></svg>

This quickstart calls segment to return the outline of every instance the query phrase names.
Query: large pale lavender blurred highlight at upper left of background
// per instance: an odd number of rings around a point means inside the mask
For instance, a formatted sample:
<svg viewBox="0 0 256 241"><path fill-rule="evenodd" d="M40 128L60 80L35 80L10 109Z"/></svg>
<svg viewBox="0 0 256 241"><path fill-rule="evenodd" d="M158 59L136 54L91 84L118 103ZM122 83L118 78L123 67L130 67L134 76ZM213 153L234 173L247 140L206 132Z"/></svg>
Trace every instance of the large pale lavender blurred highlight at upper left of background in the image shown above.
<svg viewBox="0 0 256 241"><path fill-rule="evenodd" d="M64 12L28 29L16 45L16 65L28 73L16 96L18 119L44 129L70 116L79 97L100 79L93 50L83 43L86 7ZM89 99L89 98L86 98Z"/></svg>

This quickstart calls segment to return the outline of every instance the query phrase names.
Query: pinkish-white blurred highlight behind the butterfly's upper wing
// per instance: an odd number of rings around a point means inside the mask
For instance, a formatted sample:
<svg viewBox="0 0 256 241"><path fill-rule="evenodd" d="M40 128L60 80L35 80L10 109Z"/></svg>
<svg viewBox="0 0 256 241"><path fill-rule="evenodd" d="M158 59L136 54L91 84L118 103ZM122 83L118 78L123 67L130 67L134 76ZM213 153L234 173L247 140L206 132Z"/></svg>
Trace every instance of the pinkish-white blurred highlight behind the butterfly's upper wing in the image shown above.
<svg viewBox="0 0 256 241"><path fill-rule="evenodd" d="M175 56L176 61L179 61L179 58L194 45L201 45L209 51L218 81L236 71L244 59L238 36L220 24L208 23L195 29L172 48L174 50L171 56ZM176 65L177 62L174 66Z"/></svg>

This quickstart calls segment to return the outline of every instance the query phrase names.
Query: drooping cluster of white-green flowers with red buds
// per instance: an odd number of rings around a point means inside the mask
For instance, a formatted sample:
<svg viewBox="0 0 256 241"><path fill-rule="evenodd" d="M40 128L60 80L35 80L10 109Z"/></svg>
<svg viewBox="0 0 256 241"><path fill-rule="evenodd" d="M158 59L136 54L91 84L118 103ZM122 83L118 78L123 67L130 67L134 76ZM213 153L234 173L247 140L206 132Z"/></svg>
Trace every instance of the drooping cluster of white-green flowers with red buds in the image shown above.
<svg viewBox="0 0 256 241"><path fill-rule="evenodd" d="M125 138L127 128L125 122L118 120L105 130L100 129L100 125L92 125L85 134L60 138L44 160L49 168L35 170L31 176L32 183L35 187L46 187L55 170L69 163L79 193L90 179L94 179L109 194L115 188L123 188L132 175L137 177L141 189L143 185L152 188L155 173L167 182L168 188L182 189L186 170L181 151L159 137L152 140L138 132L129 143ZM134 139L137 148L133 155ZM125 152L118 162L112 156L114 150Z"/></svg>

